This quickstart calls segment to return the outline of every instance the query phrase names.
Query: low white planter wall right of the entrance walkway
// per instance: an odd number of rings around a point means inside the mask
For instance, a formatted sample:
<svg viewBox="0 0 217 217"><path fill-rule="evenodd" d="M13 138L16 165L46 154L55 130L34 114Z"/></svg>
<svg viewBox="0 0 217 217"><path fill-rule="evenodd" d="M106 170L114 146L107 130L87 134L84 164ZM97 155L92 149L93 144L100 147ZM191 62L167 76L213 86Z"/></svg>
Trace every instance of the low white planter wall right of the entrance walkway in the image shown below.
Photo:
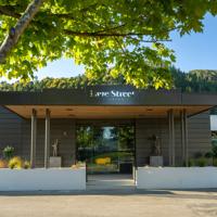
<svg viewBox="0 0 217 217"><path fill-rule="evenodd" d="M137 188L217 188L217 167L138 167Z"/></svg>

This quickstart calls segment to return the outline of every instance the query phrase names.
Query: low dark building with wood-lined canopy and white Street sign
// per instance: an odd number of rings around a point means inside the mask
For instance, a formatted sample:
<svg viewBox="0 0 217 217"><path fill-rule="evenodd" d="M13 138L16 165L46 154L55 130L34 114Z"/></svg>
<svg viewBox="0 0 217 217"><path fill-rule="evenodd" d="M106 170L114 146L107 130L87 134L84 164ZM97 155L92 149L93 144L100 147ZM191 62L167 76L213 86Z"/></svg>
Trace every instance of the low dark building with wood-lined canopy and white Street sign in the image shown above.
<svg viewBox="0 0 217 217"><path fill-rule="evenodd" d="M129 86L0 92L0 150L49 167L58 141L63 167L87 161L92 173L122 173L149 165L158 145L164 166L182 166L210 151L216 98Z"/></svg>

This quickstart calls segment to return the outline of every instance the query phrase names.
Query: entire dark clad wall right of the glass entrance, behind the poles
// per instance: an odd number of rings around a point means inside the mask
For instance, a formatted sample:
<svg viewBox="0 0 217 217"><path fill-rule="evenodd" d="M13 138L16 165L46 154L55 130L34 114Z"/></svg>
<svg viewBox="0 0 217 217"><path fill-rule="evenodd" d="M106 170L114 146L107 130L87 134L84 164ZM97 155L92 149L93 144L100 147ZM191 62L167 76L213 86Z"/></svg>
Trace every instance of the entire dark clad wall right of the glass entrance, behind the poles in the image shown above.
<svg viewBox="0 0 217 217"><path fill-rule="evenodd" d="M164 164L167 166L169 154L167 118L144 118L136 120L137 165L144 166L149 164L149 157L152 153L149 138L152 135L161 138ZM189 157L193 157L197 152L205 154L210 151L210 123L208 112L192 116L188 119L188 139ZM176 165L182 166L181 126L179 118L175 119L175 145Z"/></svg>

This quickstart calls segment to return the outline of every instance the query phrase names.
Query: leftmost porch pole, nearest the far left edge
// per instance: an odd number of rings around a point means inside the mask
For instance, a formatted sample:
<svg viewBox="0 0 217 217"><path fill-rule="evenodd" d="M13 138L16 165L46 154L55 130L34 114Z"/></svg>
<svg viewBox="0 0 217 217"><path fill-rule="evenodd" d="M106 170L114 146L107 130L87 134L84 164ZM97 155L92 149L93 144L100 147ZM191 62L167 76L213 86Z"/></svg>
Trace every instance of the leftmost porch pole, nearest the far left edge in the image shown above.
<svg viewBox="0 0 217 217"><path fill-rule="evenodd" d="M30 131L30 166L36 167L36 133L37 133L37 112L31 111L31 131Z"/></svg>

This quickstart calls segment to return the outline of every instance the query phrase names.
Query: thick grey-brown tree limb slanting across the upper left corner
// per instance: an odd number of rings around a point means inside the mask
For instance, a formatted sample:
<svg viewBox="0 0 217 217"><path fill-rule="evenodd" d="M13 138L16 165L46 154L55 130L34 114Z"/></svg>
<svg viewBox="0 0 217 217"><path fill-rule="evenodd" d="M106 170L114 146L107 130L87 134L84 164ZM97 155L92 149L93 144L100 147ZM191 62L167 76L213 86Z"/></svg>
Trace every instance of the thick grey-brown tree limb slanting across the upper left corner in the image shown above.
<svg viewBox="0 0 217 217"><path fill-rule="evenodd" d="M5 63L7 55L17 43L20 37L24 33L24 30L28 27L30 21L34 18L34 16L39 11L41 4L44 1L46 0L33 0L28 4L24 14L17 21L16 25L10 29L9 35L5 37L4 41L0 47L0 64Z"/></svg>

